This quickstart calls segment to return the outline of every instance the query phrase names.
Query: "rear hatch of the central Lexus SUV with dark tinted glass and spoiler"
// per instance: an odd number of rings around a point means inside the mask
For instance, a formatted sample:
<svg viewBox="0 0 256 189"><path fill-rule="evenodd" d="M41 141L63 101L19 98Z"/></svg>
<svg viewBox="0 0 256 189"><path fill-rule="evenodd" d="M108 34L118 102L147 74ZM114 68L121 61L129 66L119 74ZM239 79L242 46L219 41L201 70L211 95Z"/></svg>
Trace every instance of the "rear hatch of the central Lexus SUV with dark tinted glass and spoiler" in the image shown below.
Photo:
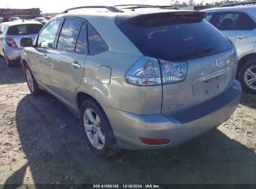
<svg viewBox="0 0 256 189"><path fill-rule="evenodd" d="M234 80L237 63L232 43L203 19L204 12L143 14L116 24L146 56L187 63L186 79L163 83L161 113L172 115L214 98Z"/></svg>

